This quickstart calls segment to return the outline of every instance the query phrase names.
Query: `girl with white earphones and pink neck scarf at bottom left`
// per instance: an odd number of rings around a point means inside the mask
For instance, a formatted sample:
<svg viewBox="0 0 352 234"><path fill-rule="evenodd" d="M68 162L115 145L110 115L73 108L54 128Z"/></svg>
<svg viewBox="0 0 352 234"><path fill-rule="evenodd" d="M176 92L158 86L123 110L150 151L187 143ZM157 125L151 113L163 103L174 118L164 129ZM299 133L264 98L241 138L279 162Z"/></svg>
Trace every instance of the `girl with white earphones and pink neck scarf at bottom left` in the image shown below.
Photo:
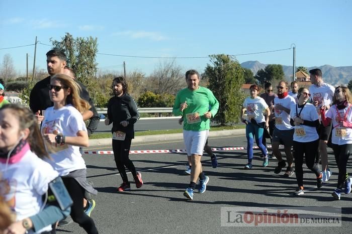
<svg viewBox="0 0 352 234"><path fill-rule="evenodd" d="M0 108L0 196L16 216L4 233L44 233L69 214L53 199L44 202L58 173L42 159L49 158L32 111L17 104Z"/></svg>

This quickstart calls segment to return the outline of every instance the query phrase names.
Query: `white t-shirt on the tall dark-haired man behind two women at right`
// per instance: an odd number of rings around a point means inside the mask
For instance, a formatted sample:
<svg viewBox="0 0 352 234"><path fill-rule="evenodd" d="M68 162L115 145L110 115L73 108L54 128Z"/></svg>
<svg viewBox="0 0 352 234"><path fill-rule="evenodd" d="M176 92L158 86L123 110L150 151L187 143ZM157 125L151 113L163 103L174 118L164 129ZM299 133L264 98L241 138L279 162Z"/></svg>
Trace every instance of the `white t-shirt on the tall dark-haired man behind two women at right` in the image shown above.
<svg viewBox="0 0 352 234"><path fill-rule="evenodd" d="M312 84L311 86L309 86L311 101L312 102L314 102L315 100L318 101L318 106L316 106L316 110L319 115L319 120L321 120L319 108L322 105L330 105L332 103L334 92L335 92L335 88L332 85L327 83L322 83L321 86L317 86L315 84Z"/></svg>

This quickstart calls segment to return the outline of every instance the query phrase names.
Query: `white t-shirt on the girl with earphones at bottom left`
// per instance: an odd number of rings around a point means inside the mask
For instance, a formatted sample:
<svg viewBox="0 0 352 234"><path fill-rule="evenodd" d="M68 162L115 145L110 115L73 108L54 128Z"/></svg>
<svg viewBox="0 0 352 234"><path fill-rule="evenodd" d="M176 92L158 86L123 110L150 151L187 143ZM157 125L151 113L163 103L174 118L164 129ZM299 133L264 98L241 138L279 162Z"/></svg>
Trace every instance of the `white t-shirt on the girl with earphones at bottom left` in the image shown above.
<svg viewBox="0 0 352 234"><path fill-rule="evenodd" d="M0 162L0 191L5 189L5 200L16 213L17 221L40 211L48 183L58 177L58 172L30 151L28 144L21 152L18 153L20 156L14 156L18 159L9 163L6 171L6 162ZM38 233L49 230L51 225L38 230Z"/></svg>

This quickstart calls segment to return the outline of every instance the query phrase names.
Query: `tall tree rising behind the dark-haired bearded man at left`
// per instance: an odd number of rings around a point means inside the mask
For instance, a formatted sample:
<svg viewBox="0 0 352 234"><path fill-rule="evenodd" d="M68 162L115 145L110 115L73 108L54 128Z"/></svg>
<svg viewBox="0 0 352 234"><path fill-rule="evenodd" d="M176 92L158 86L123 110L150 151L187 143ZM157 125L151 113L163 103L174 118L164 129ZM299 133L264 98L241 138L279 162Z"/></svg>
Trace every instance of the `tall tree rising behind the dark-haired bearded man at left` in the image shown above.
<svg viewBox="0 0 352 234"><path fill-rule="evenodd" d="M61 39L61 41L50 39L50 41L54 48L65 51L67 65L74 70L76 79L87 87L91 97L95 99L100 92L97 89L99 85L96 79L98 39L92 37L74 39L69 33L66 33L65 37Z"/></svg>

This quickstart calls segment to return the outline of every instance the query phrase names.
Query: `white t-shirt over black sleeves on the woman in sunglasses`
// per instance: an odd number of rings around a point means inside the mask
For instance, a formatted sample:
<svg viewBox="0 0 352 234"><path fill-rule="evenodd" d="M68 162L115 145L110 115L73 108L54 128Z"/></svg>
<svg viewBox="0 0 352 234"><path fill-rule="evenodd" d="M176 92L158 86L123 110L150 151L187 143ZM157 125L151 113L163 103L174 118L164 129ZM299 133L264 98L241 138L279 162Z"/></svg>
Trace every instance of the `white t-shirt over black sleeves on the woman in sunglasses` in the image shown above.
<svg viewBox="0 0 352 234"><path fill-rule="evenodd" d="M315 106L311 103L306 103L303 108L298 107L298 104L291 105L290 116L292 120L296 117L299 117L304 121L316 121L319 119L318 113L315 111ZM293 135L293 140L296 142L312 142L319 139L315 127L299 125L294 128L295 133Z"/></svg>

